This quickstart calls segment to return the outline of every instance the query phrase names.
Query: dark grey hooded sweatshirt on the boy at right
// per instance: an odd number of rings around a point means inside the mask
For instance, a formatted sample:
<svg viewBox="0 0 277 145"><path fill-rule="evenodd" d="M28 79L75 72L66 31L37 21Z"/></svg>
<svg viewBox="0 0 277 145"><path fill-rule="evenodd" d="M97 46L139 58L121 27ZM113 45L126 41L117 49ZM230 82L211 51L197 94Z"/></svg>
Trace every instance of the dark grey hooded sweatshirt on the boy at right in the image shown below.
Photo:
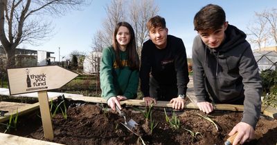
<svg viewBox="0 0 277 145"><path fill-rule="evenodd" d="M225 39L208 48L198 35L193 41L193 84L197 102L243 104L242 122L255 129L260 117L262 92L258 65L244 32L229 25Z"/></svg>

